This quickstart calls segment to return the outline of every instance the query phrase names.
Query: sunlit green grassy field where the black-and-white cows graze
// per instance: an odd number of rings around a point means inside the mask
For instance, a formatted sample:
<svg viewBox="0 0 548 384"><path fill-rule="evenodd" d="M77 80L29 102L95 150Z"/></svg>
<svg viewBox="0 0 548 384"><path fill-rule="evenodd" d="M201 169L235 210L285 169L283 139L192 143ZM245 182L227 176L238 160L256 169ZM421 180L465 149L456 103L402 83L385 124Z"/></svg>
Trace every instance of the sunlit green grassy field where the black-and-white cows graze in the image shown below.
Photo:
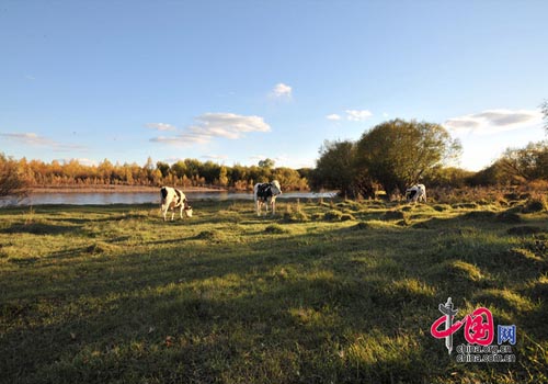
<svg viewBox="0 0 548 384"><path fill-rule="evenodd" d="M546 204L193 206L0 210L0 382L548 383ZM449 296L516 361L456 362Z"/></svg>

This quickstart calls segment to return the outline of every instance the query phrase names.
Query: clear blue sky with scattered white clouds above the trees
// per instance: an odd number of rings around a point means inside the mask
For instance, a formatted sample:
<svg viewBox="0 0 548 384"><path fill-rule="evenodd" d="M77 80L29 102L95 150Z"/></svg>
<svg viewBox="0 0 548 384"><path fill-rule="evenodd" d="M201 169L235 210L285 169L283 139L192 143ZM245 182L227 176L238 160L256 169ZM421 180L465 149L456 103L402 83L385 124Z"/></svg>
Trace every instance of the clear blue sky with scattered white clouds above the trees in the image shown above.
<svg viewBox="0 0 548 384"><path fill-rule="evenodd" d="M0 1L0 151L294 168L384 121L544 139L548 2Z"/></svg>

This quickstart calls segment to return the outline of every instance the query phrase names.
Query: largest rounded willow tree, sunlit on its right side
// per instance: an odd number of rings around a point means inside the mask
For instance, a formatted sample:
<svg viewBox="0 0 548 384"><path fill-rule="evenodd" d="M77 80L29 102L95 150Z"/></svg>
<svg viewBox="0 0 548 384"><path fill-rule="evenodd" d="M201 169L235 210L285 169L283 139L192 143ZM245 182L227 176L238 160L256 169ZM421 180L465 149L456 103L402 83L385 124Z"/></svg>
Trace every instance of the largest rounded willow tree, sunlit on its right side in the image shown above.
<svg viewBox="0 0 548 384"><path fill-rule="evenodd" d="M439 124L392 120L365 132L356 144L356 165L387 193L403 192L460 154L460 143Z"/></svg>

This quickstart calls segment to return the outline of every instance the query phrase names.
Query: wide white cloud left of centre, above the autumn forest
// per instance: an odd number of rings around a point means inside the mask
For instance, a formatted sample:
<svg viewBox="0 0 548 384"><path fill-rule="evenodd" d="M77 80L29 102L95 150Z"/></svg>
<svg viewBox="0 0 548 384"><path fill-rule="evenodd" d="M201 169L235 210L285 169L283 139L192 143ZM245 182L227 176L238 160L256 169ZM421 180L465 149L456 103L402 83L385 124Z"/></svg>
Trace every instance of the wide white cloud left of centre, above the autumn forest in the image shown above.
<svg viewBox="0 0 548 384"><path fill-rule="evenodd" d="M270 132L271 126L260 116L243 116L233 113L205 113L195 117L196 124L186 127L176 136L159 136L150 142L185 146L206 144L215 137L237 139L250 132Z"/></svg>

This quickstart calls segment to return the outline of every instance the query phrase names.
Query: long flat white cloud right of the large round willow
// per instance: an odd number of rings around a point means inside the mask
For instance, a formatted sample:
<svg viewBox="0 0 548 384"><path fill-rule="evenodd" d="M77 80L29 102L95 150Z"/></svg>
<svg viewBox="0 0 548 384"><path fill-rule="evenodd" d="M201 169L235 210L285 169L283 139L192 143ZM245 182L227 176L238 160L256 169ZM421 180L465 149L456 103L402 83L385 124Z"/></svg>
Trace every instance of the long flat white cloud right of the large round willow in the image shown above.
<svg viewBox="0 0 548 384"><path fill-rule="evenodd" d="M496 134L540 124L543 114L538 110L488 110L449 118L445 126L456 133Z"/></svg>

